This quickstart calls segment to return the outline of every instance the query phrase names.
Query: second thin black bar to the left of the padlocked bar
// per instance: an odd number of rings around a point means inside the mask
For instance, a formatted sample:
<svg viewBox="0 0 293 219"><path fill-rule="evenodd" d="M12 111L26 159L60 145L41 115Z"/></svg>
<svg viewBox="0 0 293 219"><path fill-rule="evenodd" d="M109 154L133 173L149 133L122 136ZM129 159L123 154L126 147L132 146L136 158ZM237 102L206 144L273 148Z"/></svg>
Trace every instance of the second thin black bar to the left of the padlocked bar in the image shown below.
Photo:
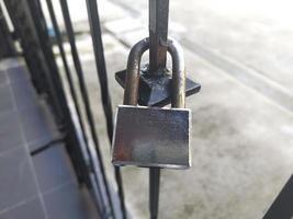
<svg viewBox="0 0 293 219"><path fill-rule="evenodd" d="M105 176L104 164L102 161L102 154L100 151L99 139L98 139L98 135L97 135L95 127L94 127L93 115L92 115L92 112L90 108L90 101L89 101L88 91L87 91L86 83L84 83L83 71L81 68L78 50L76 47L75 33L74 33L72 23L71 23L69 10L68 10L67 0L60 0L60 5L61 5L61 11L63 11L63 16L64 16L64 21L65 21L65 26L66 26L69 44L71 47L71 55L72 55L75 68L76 68L77 76L79 79L79 87L80 87L82 100L83 100L84 107L86 107L86 114L88 117L88 122L89 122L89 126L90 126L90 130L91 130L91 136L92 136L93 142L94 142L95 152L98 155L98 162L99 162L100 168L101 168L102 181L104 184L106 195L109 197L110 211L111 211L111 215L114 217L113 204L112 204L111 194L110 194L110 189L109 189L109 185L108 185L108 181L106 181L106 176ZM105 210L108 209L106 204L103 204L103 207ZM108 210L106 210L106 212L108 212Z"/></svg>

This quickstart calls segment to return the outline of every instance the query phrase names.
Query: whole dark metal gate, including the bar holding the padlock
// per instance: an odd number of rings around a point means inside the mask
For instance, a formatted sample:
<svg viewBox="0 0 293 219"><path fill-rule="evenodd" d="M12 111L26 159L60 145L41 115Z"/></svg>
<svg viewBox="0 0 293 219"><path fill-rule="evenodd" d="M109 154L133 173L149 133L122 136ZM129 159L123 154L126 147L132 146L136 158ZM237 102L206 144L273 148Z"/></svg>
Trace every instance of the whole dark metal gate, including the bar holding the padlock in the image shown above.
<svg viewBox="0 0 293 219"><path fill-rule="evenodd" d="M11 42L13 41L12 35L14 35L20 42L22 55L24 56L30 69L33 84L40 94L46 96L46 100L55 114L55 119L58 124L59 130L64 135L67 151L71 158L79 183L87 186L87 188L91 192L101 218L127 218L121 169L119 166L113 166L115 184L117 187L116 194L113 193L113 189L111 189L113 184L108 182L104 161L99 145L99 136L94 126L92 106L84 81L80 56L77 49L76 35L67 0L59 0L66 30L65 35L60 32L60 26L56 19L52 0L44 1L53 24L54 37L48 35L48 25L44 16L44 8L42 7L41 0L3 1L13 24L14 33L9 33L7 24L3 24L1 27L4 30L5 36L1 37L0 35L0 38L8 38L8 41ZM113 113L108 87L108 74L104 60L103 42L101 38L102 33L98 4L97 0L86 0L86 3L97 73L101 88L101 102L106 120L108 137L109 141L112 142ZM162 76L166 69L168 16L169 0L149 0L149 72L153 77ZM4 20L1 21L5 22ZM74 72L70 70L68 57L64 48L65 38L68 39L70 45L70 56L74 60L75 72L78 78L78 88L76 88L76 84L74 83ZM56 64L56 57L53 53L54 42L56 42L61 57L67 80L66 83L69 84L69 96L66 95L65 84L60 76L60 70ZM10 45L10 49L5 49L8 51L5 56L14 56L15 51L13 45L11 45L11 43L7 45ZM154 95L154 100L138 100L139 104L162 106L170 103L170 93L168 93L167 89L170 83L170 78L168 77L165 78L166 82L162 84L164 93ZM124 87L125 71L117 72L116 79ZM200 85L189 79L187 81L187 87L188 95L196 93L200 90ZM150 89L142 92L153 91ZM81 103L78 101L79 93L81 94ZM71 100L74 102L74 107L70 107L69 104ZM86 119L83 119L82 112L86 112ZM46 146L43 149L35 151L35 153L41 150L45 150L49 146ZM92 148L94 148L94 150L92 150ZM158 217L159 185L160 169L150 168L149 211L150 218L154 219ZM119 208L116 207L117 203Z"/></svg>

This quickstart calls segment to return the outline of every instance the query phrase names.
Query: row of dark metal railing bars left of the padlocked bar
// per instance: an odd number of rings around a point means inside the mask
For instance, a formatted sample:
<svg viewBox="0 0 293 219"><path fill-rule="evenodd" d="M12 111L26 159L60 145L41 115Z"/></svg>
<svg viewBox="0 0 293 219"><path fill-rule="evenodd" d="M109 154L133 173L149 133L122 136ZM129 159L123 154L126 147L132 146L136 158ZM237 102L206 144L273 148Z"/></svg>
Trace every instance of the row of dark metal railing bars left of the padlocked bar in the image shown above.
<svg viewBox="0 0 293 219"><path fill-rule="evenodd" d="M108 137L111 142L113 136L113 113L108 88L98 4L95 0L86 0L86 2L98 70L97 73L101 88L101 100L106 119ZM113 195L113 189L111 191L111 185L106 178L99 136L94 126L84 72L76 45L75 30L67 0L59 0L59 4L66 28L65 34L70 45L70 55L78 78L78 88L74 83L74 71L70 70L68 57L64 48L65 37L60 32L52 0L46 0L45 3L53 24L55 41L61 57L66 80L69 84L70 96L66 95L64 89L41 1L4 0L4 3L14 26L15 35L20 41L23 56L31 71L32 81L38 93L47 96L58 127L65 135L67 151L71 158L79 183L87 185L88 189L91 191L101 218L126 218L120 168L114 168L117 195ZM78 93L81 94L81 103L78 101ZM69 100L74 102L74 108L69 107ZM83 111L86 112L86 119L82 117ZM74 118L75 116L72 117L75 113L77 119ZM89 127L89 132L86 127ZM91 142L93 142L94 150L91 150ZM120 200L120 211L115 210L116 208L114 209L113 197Z"/></svg>

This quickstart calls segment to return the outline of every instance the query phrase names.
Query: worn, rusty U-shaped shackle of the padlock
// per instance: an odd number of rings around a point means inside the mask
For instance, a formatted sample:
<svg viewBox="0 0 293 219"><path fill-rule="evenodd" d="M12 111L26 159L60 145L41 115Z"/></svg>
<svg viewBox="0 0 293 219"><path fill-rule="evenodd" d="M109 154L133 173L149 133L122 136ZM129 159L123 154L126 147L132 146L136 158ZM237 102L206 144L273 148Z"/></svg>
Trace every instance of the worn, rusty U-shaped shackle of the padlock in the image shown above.
<svg viewBox="0 0 293 219"><path fill-rule="evenodd" d="M149 48L149 39L144 38L135 44L127 60L126 84L124 91L124 105L137 105L140 59ZM185 107L185 66L183 49L174 39L168 39L168 51L172 57L172 82L171 82L171 106L176 108Z"/></svg>

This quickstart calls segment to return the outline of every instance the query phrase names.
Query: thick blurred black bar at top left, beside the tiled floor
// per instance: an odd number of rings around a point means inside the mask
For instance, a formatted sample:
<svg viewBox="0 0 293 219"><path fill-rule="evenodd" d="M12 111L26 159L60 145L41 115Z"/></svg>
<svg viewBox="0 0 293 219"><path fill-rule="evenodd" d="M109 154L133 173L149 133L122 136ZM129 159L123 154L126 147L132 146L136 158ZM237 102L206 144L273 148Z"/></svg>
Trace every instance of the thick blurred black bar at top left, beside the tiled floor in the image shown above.
<svg viewBox="0 0 293 219"><path fill-rule="evenodd" d="M60 122L63 119L63 113L59 106L59 99L54 88L53 76L48 73L48 62L45 60L44 48L46 45L41 43L41 18L35 19L34 16L37 16L36 10L31 10L31 7L34 7L35 2L4 0L4 3L13 23L15 35L20 38L20 44L32 76L33 84L38 93L45 93L48 96L55 115ZM34 13L31 13L31 11Z"/></svg>

